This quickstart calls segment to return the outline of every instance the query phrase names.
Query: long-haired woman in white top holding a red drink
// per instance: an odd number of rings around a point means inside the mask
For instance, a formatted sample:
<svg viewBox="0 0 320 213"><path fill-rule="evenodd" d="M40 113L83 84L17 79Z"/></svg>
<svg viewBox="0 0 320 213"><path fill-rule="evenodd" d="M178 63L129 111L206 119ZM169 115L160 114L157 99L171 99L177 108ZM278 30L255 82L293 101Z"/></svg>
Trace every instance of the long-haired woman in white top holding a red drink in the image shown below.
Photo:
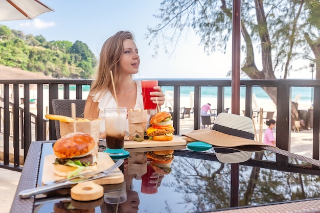
<svg viewBox="0 0 320 213"><path fill-rule="evenodd" d="M110 70L115 81L116 95L119 107L143 109L143 97L140 81L133 81L132 75L139 72L140 57L133 41L133 35L128 31L120 31L108 38L101 49L98 74L92 83L84 108L84 117L101 118L105 108L117 107L113 92ZM165 94L161 87L155 86L150 92L151 100L159 106L165 102ZM157 101L156 101L157 99ZM100 137L105 137L104 122L101 122Z"/></svg>

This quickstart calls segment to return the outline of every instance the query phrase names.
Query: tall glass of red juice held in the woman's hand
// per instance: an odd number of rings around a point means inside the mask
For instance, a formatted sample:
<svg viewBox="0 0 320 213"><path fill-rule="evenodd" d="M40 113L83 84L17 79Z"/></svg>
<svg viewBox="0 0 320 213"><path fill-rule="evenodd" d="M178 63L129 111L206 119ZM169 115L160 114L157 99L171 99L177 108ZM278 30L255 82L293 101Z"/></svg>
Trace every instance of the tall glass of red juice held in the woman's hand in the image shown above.
<svg viewBox="0 0 320 213"><path fill-rule="evenodd" d="M156 104L152 103L150 100L150 92L156 91L153 89L154 86L158 85L158 80L142 80L142 96L143 96L143 105L144 109L156 109Z"/></svg>

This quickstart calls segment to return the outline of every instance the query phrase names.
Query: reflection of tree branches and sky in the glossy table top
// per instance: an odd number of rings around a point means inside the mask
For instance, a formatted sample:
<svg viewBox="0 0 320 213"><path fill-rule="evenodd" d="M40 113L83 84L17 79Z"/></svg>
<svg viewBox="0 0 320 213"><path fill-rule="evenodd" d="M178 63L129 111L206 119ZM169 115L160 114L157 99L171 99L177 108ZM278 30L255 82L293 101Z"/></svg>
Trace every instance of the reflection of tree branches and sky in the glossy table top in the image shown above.
<svg viewBox="0 0 320 213"><path fill-rule="evenodd" d="M264 152L261 159L275 161L276 154ZM303 164L297 160L292 163ZM175 165L179 167L171 174L173 180L162 185L182 194L184 201L180 204L189 208L192 205L192 209L185 212L230 207L231 164L176 157L172 167ZM245 165L240 165L239 170L239 206L311 199L320 195L316 175Z"/></svg>

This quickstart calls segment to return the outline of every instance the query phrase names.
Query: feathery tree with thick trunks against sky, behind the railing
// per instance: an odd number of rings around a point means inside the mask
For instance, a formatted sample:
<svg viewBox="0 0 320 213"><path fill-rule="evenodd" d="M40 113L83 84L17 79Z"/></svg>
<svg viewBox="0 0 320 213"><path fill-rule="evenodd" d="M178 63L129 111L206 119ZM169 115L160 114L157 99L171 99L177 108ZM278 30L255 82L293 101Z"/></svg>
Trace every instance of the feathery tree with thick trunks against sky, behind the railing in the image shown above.
<svg viewBox="0 0 320 213"><path fill-rule="evenodd" d="M231 39L232 3L232 0L164 0L155 15L159 24L148 29L149 44L156 50L164 46L168 52L168 47L176 44L182 34L193 30L205 52L223 52ZM320 79L319 15L316 0L242 0L243 74L251 79L277 79L276 73L280 73L286 79L291 72L306 68L293 67L293 61L307 59L319 67L316 78ZM310 48L314 56L310 56ZM276 103L276 88L263 89Z"/></svg>

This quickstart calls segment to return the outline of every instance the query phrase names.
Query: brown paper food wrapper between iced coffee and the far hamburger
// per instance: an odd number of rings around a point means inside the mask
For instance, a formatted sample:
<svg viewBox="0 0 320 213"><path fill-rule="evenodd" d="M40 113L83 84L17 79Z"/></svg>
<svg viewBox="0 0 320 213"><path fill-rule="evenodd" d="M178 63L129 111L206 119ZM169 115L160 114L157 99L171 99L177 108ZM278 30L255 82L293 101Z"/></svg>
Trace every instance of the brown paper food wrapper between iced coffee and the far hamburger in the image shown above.
<svg viewBox="0 0 320 213"><path fill-rule="evenodd" d="M147 110L129 111L128 122L129 122L129 139L139 134L141 137L144 136L144 132L147 127Z"/></svg>

